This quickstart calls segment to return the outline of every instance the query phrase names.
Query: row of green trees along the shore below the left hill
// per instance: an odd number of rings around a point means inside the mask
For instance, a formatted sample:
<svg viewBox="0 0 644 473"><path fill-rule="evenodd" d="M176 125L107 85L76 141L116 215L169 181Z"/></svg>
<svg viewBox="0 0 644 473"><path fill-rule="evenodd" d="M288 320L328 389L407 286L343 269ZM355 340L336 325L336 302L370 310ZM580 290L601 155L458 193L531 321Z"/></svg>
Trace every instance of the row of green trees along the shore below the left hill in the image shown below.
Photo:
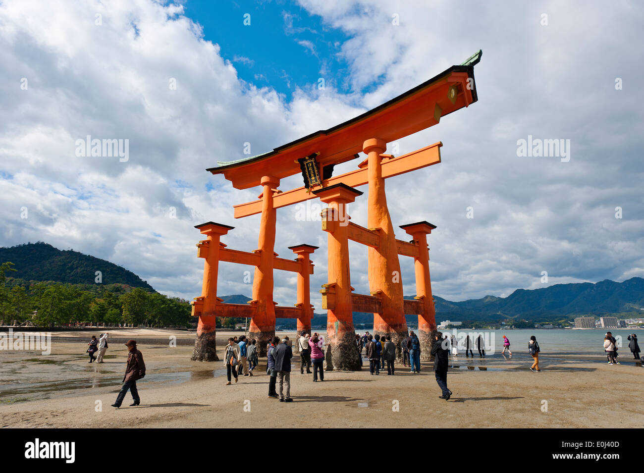
<svg viewBox="0 0 644 473"><path fill-rule="evenodd" d="M0 265L0 320L53 327L73 324L187 327L188 301L125 284L69 284L8 277L14 264ZM35 314L34 314L35 311Z"/></svg>

